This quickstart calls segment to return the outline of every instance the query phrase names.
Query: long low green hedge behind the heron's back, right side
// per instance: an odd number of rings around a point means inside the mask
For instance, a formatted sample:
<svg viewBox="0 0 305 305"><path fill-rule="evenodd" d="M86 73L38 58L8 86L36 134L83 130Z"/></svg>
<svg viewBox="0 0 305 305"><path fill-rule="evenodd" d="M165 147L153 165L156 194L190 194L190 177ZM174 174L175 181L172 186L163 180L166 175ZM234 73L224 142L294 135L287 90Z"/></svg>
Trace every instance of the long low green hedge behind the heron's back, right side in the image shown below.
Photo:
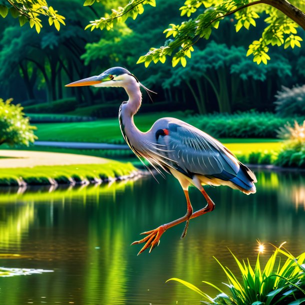
<svg viewBox="0 0 305 305"><path fill-rule="evenodd" d="M278 117L271 112L237 112L234 114L213 113L194 115L188 122L214 137L264 138L276 137L276 130L291 117ZM297 118L298 121L301 118Z"/></svg>

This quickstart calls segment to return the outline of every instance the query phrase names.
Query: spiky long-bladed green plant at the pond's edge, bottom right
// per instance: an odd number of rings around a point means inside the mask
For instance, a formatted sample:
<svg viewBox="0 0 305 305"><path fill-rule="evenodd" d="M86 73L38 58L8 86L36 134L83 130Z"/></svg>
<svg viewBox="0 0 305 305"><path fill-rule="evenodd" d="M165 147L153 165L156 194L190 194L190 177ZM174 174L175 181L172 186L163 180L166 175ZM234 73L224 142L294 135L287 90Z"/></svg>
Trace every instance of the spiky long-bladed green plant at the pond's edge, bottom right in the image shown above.
<svg viewBox="0 0 305 305"><path fill-rule="evenodd" d="M220 269L227 276L228 284L225 285L228 286L230 294L223 292L212 283L203 281L220 292L215 298L212 298L189 282L178 278L169 280L179 281L196 291L205 298L206 301L202 302L206 304L298 305L305 300L305 252L295 258L279 246L275 248L263 269L260 267L259 252L254 268L248 259L239 261L233 253L232 255L241 273L241 280L238 280L228 267L215 258ZM282 256L286 257L284 262Z"/></svg>

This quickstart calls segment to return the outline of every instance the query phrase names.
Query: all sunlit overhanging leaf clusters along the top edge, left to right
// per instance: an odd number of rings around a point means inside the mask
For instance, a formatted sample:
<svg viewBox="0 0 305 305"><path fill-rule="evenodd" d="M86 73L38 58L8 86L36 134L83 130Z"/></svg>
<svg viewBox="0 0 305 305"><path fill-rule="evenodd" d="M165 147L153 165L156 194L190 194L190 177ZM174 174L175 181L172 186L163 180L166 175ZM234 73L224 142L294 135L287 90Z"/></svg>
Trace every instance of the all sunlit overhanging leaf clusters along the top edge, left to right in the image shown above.
<svg viewBox="0 0 305 305"><path fill-rule="evenodd" d="M9 9L13 17L19 18L20 25L29 20L30 26L35 25L37 32L42 27L40 15L48 16L49 24L54 24L57 30L60 28L60 23L64 24L64 17L57 14L51 6L47 6L45 0L7 1L10 7L0 5L0 14L5 17ZM83 5L92 5L94 2L100 0L85 0ZM268 55L270 46L300 47L302 38L297 35L297 27L301 25L305 29L305 15L292 4L300 9L305 8L302 0L291 0L291 3L283 0L185 0L180 11L181 16L188 19L181 24L169 24L164 30L168 38L164 45L150 48L145 55L140 56L137 63L144 62L147 67L151 61L164 63L166 57L171 55L172 66L179 62L185 66L186 58L191 57L193 45L200 38L208 39L212 30L218 27L219 21L225 16L232 15L236 20L236 32L242 27L249 29L250 26L255 26L255 20L260 16L264 17L265 28L260 37L249 45L246 55L252 55L253 61L257 64L260 62L266 64L270 59ZM130 0L125 6L118 6L112 9L111 13L90 21L86 28L109 30L117 22L124 22L129 17L135 19L138 14L143 13L145 5L155 6L156 2Z"/></svg>

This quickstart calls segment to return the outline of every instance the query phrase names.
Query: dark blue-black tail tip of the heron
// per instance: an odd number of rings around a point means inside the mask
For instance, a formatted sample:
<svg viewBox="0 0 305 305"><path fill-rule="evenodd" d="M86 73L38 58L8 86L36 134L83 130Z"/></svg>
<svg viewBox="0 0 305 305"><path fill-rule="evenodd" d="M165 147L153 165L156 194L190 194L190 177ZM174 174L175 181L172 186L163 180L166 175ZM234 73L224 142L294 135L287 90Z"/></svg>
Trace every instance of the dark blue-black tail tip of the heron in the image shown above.
<svg viewBox="0 0 305 305"><path fill-rule="evenodd" d="M254 173L242 163L239 163L239 171L230 181L247 195L256 191L254 185L254 183L257 182L256 177Z"/></svg>

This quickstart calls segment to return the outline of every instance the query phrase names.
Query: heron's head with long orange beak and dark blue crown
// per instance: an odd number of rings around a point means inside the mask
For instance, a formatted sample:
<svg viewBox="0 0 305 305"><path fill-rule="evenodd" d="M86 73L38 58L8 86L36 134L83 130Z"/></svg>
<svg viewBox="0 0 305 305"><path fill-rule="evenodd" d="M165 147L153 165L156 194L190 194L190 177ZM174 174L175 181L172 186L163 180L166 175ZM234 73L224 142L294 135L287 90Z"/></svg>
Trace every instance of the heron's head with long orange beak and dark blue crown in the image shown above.
<svg viewBox="0 0 305 305"><path fill-rule="evenodd" d="M83 78L68 83L66 87L94 86L94 87L126 87L131 83L139 84L137 78L125 68L115 66L99 75Z"/></svg>

